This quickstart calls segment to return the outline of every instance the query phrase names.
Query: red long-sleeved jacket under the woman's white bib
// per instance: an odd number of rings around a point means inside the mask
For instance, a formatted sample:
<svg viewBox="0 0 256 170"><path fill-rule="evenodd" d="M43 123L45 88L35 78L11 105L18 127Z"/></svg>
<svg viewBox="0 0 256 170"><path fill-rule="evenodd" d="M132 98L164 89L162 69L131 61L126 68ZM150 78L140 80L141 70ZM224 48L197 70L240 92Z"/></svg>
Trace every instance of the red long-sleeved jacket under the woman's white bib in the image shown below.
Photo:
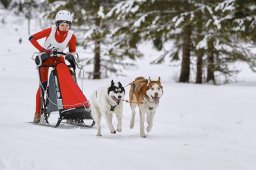
<svg viewBox="0 0 256 170"><path fill-rule="evenodd" d="M37 32L33 34L32 36L29 37L29 41L33 44L34 47L36 47L40 52L44 50L44 48L37 42L37 40L41 38L48 38L50 33L51 33L52 28L46 28L40 32ZM67 37L67 32L65 31L60 31L59 29L56 30L55 32L55 39L58 43L62 43L65 38ZM76 36L73 34L69 43L69 52L73 53L76 52Z"/></svg>

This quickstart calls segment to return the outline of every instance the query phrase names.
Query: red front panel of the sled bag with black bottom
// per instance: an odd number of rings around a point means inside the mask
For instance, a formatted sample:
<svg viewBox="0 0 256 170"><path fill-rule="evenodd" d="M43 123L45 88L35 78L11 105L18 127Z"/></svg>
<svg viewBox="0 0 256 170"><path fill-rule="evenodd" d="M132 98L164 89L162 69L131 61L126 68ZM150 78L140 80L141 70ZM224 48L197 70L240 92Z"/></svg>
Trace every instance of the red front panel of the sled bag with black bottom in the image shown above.
<svg viewBox="0 0 256 170"><path fill-rule="evenodd" d="M92 119L89 101L66 64L57 64L56 69L53 70L53 80L56 94L54 98L57 100L60 114L55 127L59 126L63 119L72 119L79 124L84 123L83 119ZM90 126L93 125L94 121Z"/></svg>

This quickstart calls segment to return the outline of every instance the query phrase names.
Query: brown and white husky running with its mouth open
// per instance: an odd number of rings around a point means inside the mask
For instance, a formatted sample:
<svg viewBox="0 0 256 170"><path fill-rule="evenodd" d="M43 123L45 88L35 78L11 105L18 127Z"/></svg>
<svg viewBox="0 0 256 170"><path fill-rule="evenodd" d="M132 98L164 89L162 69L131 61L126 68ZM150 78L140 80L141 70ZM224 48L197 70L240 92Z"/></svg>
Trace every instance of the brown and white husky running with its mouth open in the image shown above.
<svg viewBox="0 0 256 170"><path fill-rule="evenodd" d="M145 138L144 122L147 115L147 131L150 132L153 126L154 115L158 107L160 97L163 94L163 86L161 85L160 77L157 81L151 81L144 77L137 77L130 88L130 101L132 117L130 128L134 127L135 108L138 105L140 112L140 136Z"/></svg>

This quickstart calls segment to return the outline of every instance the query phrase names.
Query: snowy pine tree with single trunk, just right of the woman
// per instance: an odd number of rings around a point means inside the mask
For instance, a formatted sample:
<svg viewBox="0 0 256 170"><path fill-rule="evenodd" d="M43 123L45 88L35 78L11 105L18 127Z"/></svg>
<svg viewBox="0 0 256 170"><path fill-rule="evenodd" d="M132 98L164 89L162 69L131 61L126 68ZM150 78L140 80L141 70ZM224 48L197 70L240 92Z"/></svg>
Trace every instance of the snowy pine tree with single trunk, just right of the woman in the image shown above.
<svg viewBox="0 0 256 170"><path fill-rule="evenodd" d="M116 0L108 1L79 1L69 0L58 9L69 9L74 12L75 20L73 29L80 35L80 45L93 53L94 56L83 57L80 64L87 67L93 65L91 78L99 79L109 74L121 74L123 68L129 68L133 64L123 62L125 53L116 50L115 27L119 22L106 17L106 13L117 3ZM90 51L90 49L93 49ZM129 49L129 48L127 48ZM126 50L126 52L129 50ZM132 51L132 50L130 50Z"/></svg>

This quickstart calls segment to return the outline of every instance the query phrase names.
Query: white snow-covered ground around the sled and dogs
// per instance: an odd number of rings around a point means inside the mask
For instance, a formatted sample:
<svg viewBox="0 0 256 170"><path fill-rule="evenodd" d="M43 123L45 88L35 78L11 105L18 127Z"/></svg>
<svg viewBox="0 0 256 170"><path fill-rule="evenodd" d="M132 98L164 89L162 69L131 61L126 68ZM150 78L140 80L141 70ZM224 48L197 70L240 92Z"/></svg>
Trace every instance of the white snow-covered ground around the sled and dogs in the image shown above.
<svg viewBox="0 0 256 170"><path fill-rule="evenodd" d="M27 123L33 119L38 87L30 59L35 49L27 41L26 25L8 22L0 27L1 170L256 169L256 75L246 67L239 83L223 86L175 83L177 70L151 66L148 58L137 61L138 69L127 77L112 77L126 85L136 76L161 76L164 95L145 139L139 137L138 115L135 128L129 128L128 104L123 131L115 135L105 120L102 137L95 136L96 128L40 127ZM151 47L143 49L152 55ZM89 97L109 83L84 80L84 93Z"/></svg>

